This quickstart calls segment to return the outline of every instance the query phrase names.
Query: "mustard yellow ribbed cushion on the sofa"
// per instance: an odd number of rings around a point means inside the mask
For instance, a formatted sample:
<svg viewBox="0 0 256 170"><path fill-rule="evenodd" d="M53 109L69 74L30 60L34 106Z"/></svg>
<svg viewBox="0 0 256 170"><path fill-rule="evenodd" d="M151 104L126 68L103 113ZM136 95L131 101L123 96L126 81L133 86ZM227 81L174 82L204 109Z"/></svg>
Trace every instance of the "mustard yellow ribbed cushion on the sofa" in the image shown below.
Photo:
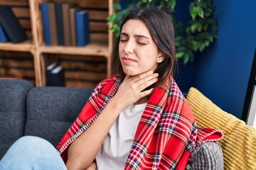
<svg viewBox="0 0 256 170"><path fill-rule="evenodd" d="M215 128L224 132L220 141L224 169L256 169L256 130L234 115L218 108L200 91L191 87L187 101L198 127Z"/></svg>

